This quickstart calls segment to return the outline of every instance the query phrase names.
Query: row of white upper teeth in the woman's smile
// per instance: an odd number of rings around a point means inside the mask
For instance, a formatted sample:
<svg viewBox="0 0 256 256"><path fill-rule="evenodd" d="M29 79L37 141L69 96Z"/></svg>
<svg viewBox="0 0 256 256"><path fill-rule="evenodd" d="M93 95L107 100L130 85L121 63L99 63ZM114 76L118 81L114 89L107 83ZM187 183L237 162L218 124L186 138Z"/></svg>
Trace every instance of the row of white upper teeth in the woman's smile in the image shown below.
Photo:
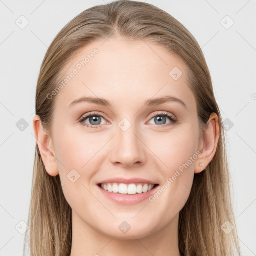
<svg viewBox="0 0 256 256"><path fill-rule="evenodd" d="M124 184L124 183L104 183L101 188L113 193L120 194L135 194L146 193L154 187L154 184L138 183L138 184Z"/></svg>

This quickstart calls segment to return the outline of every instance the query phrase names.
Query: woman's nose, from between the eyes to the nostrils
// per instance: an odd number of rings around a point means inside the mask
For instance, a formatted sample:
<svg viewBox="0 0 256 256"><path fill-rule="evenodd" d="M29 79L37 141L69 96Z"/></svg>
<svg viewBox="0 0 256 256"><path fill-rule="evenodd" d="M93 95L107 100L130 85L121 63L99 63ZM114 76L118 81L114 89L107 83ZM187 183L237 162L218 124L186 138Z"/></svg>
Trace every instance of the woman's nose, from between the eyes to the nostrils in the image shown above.
<svg viewBox="0 0 256 256"><path fill-rule="evenodd" d="M120 126L121 127L121 126ZM135 125L127 130L117 126L116 135L112 139L111 162L131 167L145 162L145 145Z"/></svg>

